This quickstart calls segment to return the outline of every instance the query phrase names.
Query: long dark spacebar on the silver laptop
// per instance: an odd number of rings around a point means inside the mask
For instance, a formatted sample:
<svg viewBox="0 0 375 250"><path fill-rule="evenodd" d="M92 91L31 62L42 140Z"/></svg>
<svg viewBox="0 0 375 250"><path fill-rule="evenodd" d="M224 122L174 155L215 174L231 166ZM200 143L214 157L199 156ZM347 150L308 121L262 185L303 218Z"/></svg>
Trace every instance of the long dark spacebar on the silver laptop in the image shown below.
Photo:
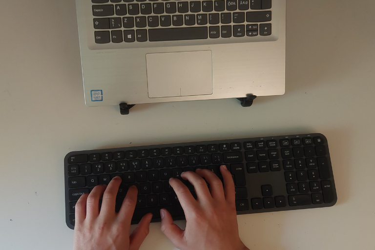
<svg viewBox="0 0 375 250"><path fill-rule="evenodd" d="M150 42L208 39L207 27L148 29Z"/></svg>

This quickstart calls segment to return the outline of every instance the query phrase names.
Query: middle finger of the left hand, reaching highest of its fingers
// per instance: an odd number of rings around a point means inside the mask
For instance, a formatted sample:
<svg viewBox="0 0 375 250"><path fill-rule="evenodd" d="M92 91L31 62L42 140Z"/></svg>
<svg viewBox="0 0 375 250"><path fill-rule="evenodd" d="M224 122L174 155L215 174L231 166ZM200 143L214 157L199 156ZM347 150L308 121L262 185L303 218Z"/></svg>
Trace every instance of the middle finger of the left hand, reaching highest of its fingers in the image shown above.
<svg viewBox="0 0 375 250"><path fill-rule="evenodd" d="M100 214L104 216L114 214L116 206L116 195L119 191L121 184L121 177L116 176L113 178L108 187L105 189L103 194L102 208L100 209Z"/></svg>

